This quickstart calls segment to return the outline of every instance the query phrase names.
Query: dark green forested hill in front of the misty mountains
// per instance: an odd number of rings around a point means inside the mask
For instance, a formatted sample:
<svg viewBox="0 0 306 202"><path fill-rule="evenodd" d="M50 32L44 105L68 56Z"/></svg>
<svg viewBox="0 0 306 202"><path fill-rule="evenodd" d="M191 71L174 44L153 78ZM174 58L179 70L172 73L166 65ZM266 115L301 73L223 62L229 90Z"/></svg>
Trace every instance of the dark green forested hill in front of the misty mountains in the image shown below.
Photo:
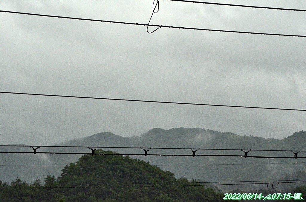
<svg viewBox="0 0 306 202"><path fill-rule="evenodd" d="M0 201L191 202L222 201L223 197L195 180L176 179L170 171L129 156L84 155L65 166L58 179L47 175L44 183L28 184L20 178L9 185L0 181L0 187L7 188L0 189Z"/></svg>

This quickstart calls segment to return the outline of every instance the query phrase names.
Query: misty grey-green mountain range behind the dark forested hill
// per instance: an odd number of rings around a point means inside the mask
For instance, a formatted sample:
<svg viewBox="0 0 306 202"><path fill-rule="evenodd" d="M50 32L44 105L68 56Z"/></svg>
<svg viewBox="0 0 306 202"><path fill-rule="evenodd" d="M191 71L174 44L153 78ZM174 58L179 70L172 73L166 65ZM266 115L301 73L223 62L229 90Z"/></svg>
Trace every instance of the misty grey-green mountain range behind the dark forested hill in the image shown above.
<svg viewBox="0 0 306 202"><path fill-rule="evenodd" d="M306 150L306 131L295 132L284 139L266 139L256 136L240 136L230 132L218 132L203 128L172 128L152 130L132 137L121 137L110 132L101 132L85 138L73 139L57 144L58 146L114 146L114 147L182 147L209 149L238 149L237 151L199 150L196 154L237 154L244 155L241 150L251 150L249 156L294 156L289 152L252 151L264 150ZM32 151L28 147L2 147L2 151ZM144 153L140 149L105 149L119 153ZM88 148L40 148L39 151L87 152ZM192 154L190 150L154 150L148 153ZM303 152L298 155L305 156ZM63 166L78 160L79 155L58 154L2 154L1 165L39 165L39 166L2 166L2 181L10 182L19 176L26 181L36 177L43 178L48 172L59 176ZM131 156L134 157L134 156ZM244 157L168 157L168 156L137 156L162 170L169 170L176 177L212 181L252 181L279 180L298 171L305 171L303 159L260 159ZM221 165L220 165L221 164ZM41 166L44 165L44 166ZM61 167L62 165L62 167ZM222 190L232 187L220 187ZM246 190L263 188L262 185L235 186Z"/></svg>

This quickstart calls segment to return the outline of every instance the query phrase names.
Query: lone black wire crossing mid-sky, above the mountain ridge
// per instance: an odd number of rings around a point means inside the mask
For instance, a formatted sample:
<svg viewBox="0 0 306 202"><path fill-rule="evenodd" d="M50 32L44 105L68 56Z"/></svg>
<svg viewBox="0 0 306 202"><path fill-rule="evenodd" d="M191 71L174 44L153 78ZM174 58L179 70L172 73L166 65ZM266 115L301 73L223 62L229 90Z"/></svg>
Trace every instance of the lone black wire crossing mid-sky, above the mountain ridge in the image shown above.
<svg viewBox="0 0 306 202"><path fill-rule="evenodd" d="M306 37L306 36L305 36ZM4 92L6 94L17 95L32 95L32 96L49 96L49 97L68 97L68 98L84 98L84 99L103 99L103 100L117 100L117 101L131 101L131 102L146 102L146 103L166 103L166 104L182 104L182 105L201 105L201 106L222 106L222 107L236 107L236 108L252 108L252 109L268 109L268 110L290 110L290 111L306 111L303 109L289 109L289 108L275 108L275 107L257 107L257 106L238 106L238 105L218 105L218 104L201 104L201 103L181 103L181 102L166 102L153 100L137 100L137 99L117 99L117 98L101 98L101 97L85 97L85 96L67 96L67 95L51 95L38 93L22 93L22 92Z"/></svg>

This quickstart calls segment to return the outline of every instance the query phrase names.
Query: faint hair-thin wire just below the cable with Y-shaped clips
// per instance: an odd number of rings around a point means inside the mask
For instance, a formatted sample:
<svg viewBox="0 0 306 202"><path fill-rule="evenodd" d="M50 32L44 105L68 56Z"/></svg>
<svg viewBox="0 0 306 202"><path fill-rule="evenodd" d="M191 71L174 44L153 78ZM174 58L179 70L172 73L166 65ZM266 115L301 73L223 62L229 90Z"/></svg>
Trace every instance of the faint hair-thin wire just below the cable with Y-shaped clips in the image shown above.
<svg viewBox="0 0 306 202"><path fill-rule="evenodd" d="M260 164L306 164L306 162L288 163L250 163L250 164L162 164L152 166L215 166L215 165L260 165ZM0 165L3 167L64 167L66 165ZM134 165L82 165L82 167L134 166Z"/></svg>

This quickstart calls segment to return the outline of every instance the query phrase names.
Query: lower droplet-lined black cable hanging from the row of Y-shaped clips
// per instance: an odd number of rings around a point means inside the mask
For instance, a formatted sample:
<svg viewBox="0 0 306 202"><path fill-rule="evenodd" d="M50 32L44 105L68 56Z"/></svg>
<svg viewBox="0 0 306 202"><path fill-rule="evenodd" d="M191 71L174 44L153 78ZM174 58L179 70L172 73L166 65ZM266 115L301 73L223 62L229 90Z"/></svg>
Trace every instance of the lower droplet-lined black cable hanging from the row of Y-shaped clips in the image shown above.
<svg viewBox="0 0 306 202"><path fill-rule="evenodd" d="M34 152L0 152L7 154L25 154L25 153L34 153ZM189 154L141 154L141 153L77 153L77 152L36 152L42 154L82 154L82 155L102 155L102 156L168 156L168 157L245 157L244 155L231 155L231 154L197 154L197 155L189 155ZM266 158L266 159L284 159L284 158L306 158L303 157L273 157L273 156L247 156L250 158Z"/></svg>

